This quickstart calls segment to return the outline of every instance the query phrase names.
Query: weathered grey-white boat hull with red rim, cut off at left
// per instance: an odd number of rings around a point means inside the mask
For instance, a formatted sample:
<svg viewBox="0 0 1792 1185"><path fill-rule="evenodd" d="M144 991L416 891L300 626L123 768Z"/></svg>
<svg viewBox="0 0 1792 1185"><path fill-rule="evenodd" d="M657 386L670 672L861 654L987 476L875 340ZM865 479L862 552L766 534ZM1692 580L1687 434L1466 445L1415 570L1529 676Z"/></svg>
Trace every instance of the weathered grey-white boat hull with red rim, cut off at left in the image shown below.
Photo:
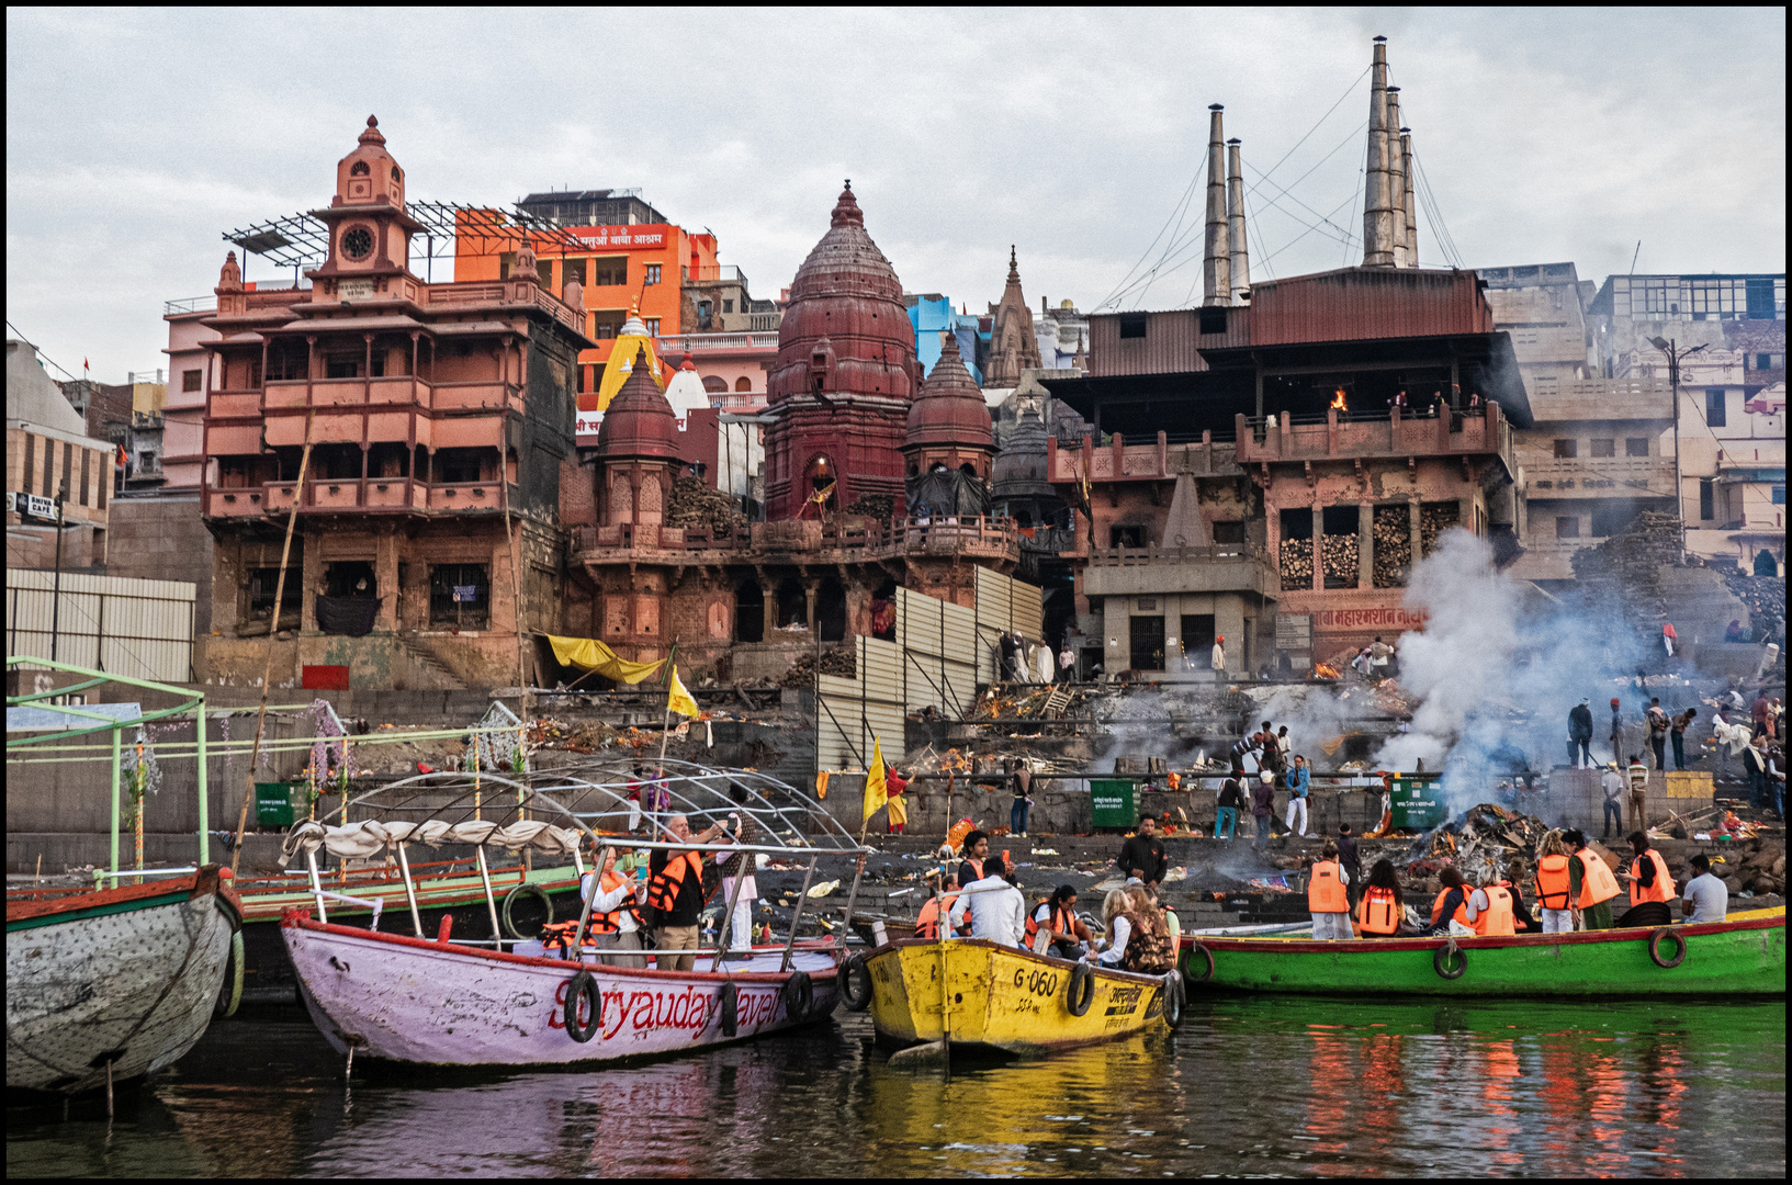
<svg viewBox="0 0 1792 1185"><path fill-rule="evenodd" d="M11 1090L81 1094L177 1061L211 1024L238 904L208 864L183 878L7 902Z"/></svg>

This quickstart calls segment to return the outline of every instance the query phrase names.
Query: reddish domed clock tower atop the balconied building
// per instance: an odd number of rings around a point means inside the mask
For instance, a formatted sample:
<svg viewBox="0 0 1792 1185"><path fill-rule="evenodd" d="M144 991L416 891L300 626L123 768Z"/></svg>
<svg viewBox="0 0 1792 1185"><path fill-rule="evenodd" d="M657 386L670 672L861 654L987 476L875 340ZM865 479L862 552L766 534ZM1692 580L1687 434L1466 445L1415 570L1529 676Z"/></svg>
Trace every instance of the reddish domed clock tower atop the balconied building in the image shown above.
<svg viewBox="0 0 1792 1185"><path fill-rule="evenodd" d="M409 276L410 235L423 224L405 213L405 170L385 151L380 120L367 117L360 143L337 163L335 197L312 215L330 228L330 258L310 274L339 299L373 299Z"/></svg>

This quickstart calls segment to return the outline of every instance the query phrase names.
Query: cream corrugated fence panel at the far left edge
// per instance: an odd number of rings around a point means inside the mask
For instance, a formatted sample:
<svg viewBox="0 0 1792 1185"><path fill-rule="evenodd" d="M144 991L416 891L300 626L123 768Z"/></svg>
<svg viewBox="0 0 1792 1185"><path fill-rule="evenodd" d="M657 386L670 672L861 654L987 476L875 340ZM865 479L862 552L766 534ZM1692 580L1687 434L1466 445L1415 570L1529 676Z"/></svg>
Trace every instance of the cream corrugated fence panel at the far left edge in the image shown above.
<svg viewBox="0 0 1792 1185"><path fill-rule="evenodd" d="M192 678L194 597L186 581L65 572L5 574L7 653L97 667L136 679Z"/></svg>

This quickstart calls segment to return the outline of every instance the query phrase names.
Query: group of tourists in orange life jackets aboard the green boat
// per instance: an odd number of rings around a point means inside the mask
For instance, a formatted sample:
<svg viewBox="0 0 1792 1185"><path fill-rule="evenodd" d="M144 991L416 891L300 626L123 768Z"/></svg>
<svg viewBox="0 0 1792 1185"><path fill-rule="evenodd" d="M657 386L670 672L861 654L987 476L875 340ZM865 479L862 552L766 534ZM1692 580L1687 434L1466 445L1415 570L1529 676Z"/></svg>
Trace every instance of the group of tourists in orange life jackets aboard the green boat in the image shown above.
<svg viewBox="0 0 1792 1185"><path fill-rule="evenodd" d="M1369 878L1357 889L1357 844L1348 835L1324 843L1306 882L1306 909L1314 918L1315 939L1396 938L1425 934L1505 936L1568 934L1573 930L1609 930L1613 902L1620 900L1618 875L1577 828L1555 830L1543 837L1536 873L1529 878L1538 913L1525 904L1523 866L1512 861L1471 886L1457 868L1437 873L1439 891L1430 916L1409 911L1407 895L1392 861L1376 861ZM1346 844L1348 841L1348 844ZM1729 889L1711 875L1704 853L1692 857L1697 873L1683 893L1676 891L1667 861L1656 852L1647 832L1631 834L1633 859L1625 869L1629 909L1658 905L1631 918L1631 925L1667 925L1668 902L1681 898L1688 921L1722 921L1729 909Z"/></svg>

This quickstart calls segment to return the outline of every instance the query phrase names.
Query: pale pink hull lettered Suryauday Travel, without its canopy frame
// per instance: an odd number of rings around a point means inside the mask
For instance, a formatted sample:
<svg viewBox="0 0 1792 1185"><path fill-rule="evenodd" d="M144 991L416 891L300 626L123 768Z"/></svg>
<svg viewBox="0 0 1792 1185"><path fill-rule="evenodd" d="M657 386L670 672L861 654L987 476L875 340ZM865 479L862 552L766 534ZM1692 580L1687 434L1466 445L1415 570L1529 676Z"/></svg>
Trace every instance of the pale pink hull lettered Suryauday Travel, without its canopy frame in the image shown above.
<svg viewBox="0 0 1792 1185"><path fill-rule="evenodd" d="M790 975L728 961L729 973L658 972L495 954L455 943L324 925L292 913L281 936L301 997L339 1052L410 1065L534 1067L681 1054L819 1020L837 1002L831 945L799 945L792 970L814 995L792 1015ZM778 952L762 952L776 966ZM708 956L699 966L708 964ZM742 970L733 970L742 968ZM581 970L597 977L602 1018L579 1043L566 1033L566 991ZM722 1031L724 982L737 991L737 1029Z"/></svg>

